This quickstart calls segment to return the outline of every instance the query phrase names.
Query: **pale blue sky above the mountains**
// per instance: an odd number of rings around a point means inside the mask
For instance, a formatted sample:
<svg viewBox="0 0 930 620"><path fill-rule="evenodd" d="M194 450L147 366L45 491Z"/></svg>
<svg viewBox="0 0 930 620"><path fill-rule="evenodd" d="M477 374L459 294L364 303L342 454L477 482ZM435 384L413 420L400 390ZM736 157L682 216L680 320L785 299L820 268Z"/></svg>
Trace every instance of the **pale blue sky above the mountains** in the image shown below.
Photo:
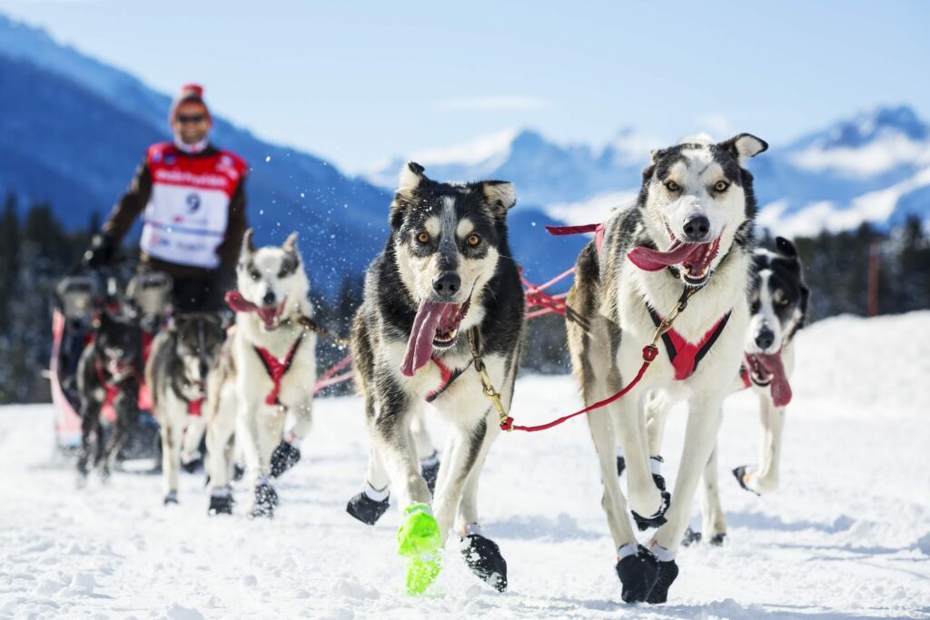
<svg viewBox="0 0 930 620"><path fill-rule="evenodd" d="M779 144L875 104L930 117L928 3L574 4L0 0L0 12L159 90L200 81L215 111L350 171L513 127Z"/></svg>

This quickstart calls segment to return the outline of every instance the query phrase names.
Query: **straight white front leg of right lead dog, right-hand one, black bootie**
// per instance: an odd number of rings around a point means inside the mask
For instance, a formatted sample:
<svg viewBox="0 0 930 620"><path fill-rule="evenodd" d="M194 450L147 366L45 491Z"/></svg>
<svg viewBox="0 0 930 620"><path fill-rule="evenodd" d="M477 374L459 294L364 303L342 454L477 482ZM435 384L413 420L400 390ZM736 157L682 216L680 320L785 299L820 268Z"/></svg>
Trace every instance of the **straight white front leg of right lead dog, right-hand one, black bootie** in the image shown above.
<svg viewBox="0 0 930 620"><path fill-rule="evenodd" d="M658 529L650 546L658 559L658 578L647 602L665 602L669 587L678 576L675 555L691 515L697 481L707 467L717 439L723 402L723 393L697 395L691 399L682 460L675 479L675 501L666 514L667 522Z"/></svg>

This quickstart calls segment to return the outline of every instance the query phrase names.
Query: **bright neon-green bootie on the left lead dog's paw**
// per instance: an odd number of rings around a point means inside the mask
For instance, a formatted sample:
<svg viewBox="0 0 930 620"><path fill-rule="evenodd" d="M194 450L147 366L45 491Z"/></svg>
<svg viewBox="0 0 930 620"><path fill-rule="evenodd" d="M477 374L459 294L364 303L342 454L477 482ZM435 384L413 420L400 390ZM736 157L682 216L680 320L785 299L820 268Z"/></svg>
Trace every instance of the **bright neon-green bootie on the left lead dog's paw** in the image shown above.
<svg viewBox="0 0 930 620"><path fill-rule="evenodd" d="M426 504L414 504L404 515L397 530L397 553L407 559L407 594L422 594L442 569L439 523Z"/></svg>

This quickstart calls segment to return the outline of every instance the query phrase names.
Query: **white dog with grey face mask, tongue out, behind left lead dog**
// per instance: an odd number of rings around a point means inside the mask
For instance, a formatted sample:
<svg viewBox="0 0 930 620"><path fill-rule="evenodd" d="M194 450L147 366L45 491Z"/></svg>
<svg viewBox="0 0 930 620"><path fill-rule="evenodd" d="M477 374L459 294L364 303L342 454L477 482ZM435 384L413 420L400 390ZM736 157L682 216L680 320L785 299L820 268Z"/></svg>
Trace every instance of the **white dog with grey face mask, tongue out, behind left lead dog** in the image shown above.
<svg viewBox="0 0 930 620"><path fill-rule="evenodd" d="M254 487L249 516L271 517L278 496L270 479L299 459L316 382L310 281L297 233L280 247L257 249L246 231L236 277L237 289L227 294L235 327L207 379L208 512L233 511L234 435Z"/></svg>

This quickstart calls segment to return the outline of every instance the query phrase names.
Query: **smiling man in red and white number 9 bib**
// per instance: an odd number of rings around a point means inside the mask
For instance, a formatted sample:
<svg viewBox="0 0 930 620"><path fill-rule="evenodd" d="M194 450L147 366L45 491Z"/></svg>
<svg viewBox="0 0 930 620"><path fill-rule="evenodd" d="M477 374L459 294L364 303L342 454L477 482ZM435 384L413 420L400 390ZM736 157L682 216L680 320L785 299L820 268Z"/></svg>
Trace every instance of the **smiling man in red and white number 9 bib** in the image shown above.
<svg viewBox="0 0 930 620"><path fill-rule="evenodd" d="M233 287L235 265L246 232L248 167L233 152L213 146L202 86L181 87L171 105L171 142L149 147L136 176L87 249L87 266L110 263L135 219L143 212L142 269L174 279L176 312L220 311Z"/></svg>

